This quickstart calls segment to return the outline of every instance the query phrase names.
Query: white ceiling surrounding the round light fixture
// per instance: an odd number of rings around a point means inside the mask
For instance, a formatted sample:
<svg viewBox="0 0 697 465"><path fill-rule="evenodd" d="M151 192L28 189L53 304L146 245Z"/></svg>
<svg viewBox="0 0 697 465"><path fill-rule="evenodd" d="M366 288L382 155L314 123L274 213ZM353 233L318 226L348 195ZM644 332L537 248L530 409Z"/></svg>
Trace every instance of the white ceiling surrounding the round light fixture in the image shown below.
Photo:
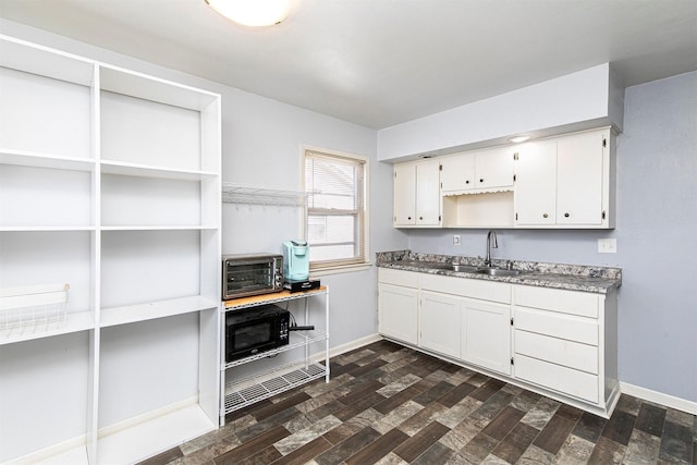
<svg viewBox="0 0 697 465"><path fill-rule="evenodd" d="M625 86L697 70L696 0L294 1L262 29L204 0L0 0L0 17L372 129L604 62Z"/></svg>

